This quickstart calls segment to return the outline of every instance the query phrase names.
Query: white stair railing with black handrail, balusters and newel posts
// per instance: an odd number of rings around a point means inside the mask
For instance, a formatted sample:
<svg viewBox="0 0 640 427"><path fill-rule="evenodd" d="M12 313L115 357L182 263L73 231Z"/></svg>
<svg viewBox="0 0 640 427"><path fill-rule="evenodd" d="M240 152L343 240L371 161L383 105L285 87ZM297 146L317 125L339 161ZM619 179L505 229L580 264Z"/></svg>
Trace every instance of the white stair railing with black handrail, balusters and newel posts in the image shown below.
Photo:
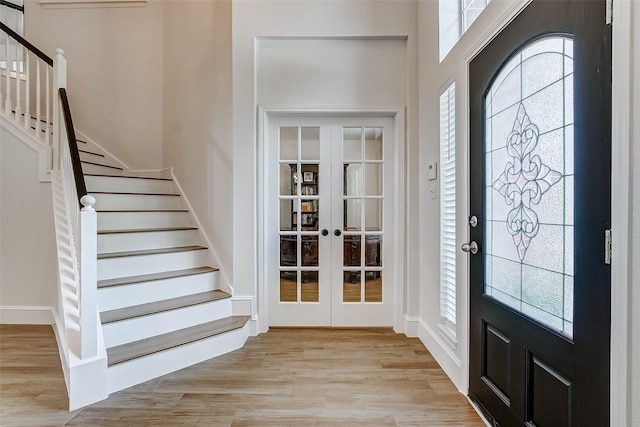
<svg viewBox="0 0 640 427"><path fill-rule="evenodd" d="M107 365L97 306L95 199L84 183L66 94L64 52L58 49L51 59L0 22L0 74L0 114L52 153L56 315L62 323L57 335L69 407L76 409L107 396Z"/></svg>

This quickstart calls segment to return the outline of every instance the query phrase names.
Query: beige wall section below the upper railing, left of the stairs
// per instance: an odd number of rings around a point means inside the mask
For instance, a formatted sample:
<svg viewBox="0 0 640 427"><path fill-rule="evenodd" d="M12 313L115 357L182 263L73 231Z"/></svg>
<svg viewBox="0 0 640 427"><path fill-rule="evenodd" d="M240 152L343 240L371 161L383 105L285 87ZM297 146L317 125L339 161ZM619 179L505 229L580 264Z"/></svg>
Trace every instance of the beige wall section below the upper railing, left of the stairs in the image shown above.
<svg viewBox="0 0 640 427"><path fill-rule="evenodd" d="M57 306L51 183L38 152L0 126L0 323L49 323Z"/></svg>

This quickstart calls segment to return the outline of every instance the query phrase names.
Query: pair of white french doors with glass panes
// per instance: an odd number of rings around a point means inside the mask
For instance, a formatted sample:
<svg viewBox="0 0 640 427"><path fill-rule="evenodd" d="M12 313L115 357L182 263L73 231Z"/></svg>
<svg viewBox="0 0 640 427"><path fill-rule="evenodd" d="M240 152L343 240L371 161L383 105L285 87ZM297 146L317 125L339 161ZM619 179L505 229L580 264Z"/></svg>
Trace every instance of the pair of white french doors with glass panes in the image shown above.
<svg viewBox="0 0 640 427"><path fill-rule="evenodd" d="M393 324L393 118L269 120L271 326Z"/></svg>

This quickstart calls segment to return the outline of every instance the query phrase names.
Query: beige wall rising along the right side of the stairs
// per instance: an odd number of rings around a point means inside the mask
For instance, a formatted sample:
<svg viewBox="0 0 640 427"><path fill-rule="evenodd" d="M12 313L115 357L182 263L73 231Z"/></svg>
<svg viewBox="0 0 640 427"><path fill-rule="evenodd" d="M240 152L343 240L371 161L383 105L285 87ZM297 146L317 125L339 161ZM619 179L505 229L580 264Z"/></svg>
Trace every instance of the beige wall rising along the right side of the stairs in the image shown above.
<svg viewBox="0 0 640 427"><path fill-rule="evenodd" d="M231 2L166 2L163 55L163 165L233 285Z"/></svg>

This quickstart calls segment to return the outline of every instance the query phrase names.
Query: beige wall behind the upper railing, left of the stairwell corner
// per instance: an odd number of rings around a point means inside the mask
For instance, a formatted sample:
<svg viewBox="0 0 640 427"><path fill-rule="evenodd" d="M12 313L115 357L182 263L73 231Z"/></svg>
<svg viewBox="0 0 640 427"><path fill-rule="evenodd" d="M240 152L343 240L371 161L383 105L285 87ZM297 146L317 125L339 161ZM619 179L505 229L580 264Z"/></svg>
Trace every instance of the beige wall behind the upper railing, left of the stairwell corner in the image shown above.
<svg viewBox="0 0 640 427"><path fill-rule="evenodd" d="M133 169L161 165L163 3L44 8L25 1L25 37L50 57L65 51L74 126Z"/></svg>

